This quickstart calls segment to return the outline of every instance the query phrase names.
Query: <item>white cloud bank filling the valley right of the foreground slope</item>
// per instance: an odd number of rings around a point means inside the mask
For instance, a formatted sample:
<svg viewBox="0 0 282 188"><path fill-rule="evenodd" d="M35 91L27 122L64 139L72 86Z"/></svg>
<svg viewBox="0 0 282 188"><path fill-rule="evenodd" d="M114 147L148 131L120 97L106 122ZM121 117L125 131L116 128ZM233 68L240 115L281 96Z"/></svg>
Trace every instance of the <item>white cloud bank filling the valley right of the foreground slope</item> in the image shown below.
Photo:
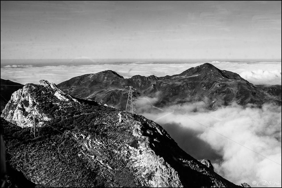
<svg viewBox="0 0 282 188"><path fill-rule="evenodd" d="M237 185L246 182L257 187L259 181L271 181L260 184L281 187L274 185L281 182L281 165L277 164L281 164L281 106L233 104L208 111L199 102L158 110L152 107L156 100L137 99L139 114L162 125L187 153L211 160L218 174Z"/></svg>

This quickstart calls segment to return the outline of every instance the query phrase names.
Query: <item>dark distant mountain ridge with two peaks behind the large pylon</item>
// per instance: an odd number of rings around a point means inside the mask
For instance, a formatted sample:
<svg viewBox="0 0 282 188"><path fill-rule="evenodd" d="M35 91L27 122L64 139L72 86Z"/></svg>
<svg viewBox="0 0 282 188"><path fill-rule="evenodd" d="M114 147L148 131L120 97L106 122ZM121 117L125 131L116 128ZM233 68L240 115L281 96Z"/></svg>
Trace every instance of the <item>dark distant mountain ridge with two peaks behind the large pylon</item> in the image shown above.
<svg viewBox="0 0 282 188"><path fill-rule="evenodd" d="M119 88L123 86L136 88L138 92L133 94L137 97L157 97L161 102L155 104L157 107L197 101L204 101L210 108L232 102L240 105L281 105L281 85L255 86L238 74L220 70L209 63L190 68L181 74L159 78L136 75L125 79L107 70L77 76L58 84L59 88L75 97L93 99L125 110L128 90Z"/></svg>

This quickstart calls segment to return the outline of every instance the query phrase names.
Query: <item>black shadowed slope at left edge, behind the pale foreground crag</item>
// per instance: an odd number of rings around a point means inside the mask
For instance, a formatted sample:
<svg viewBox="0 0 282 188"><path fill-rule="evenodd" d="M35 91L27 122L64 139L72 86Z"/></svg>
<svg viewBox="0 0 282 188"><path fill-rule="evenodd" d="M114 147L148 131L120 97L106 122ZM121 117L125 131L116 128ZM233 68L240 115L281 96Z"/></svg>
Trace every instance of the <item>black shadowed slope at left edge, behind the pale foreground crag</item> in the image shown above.
<svg viewBox="0 0 282 188"><path fill-rule="evenodd" d="M1 78L1 112L10 100L12 93L21 88L23 88L23 84Z"/></svg>

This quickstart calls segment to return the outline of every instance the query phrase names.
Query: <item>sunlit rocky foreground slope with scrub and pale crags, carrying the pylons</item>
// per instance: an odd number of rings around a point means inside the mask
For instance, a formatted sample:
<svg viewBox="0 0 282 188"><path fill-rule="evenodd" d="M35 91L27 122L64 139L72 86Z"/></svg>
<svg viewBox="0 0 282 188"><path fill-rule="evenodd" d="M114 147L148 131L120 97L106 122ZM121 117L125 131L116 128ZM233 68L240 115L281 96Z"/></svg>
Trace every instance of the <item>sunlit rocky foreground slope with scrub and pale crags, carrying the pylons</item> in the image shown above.
<svg viewBox="0 0 282 188"><path fill-rule="evenodd" d="M14 172L6 186L238 187L215 173L209 160L185 153L152 120L40 84L13 93L1 114ZM33 112L35 138L28 128Z"/></svg>

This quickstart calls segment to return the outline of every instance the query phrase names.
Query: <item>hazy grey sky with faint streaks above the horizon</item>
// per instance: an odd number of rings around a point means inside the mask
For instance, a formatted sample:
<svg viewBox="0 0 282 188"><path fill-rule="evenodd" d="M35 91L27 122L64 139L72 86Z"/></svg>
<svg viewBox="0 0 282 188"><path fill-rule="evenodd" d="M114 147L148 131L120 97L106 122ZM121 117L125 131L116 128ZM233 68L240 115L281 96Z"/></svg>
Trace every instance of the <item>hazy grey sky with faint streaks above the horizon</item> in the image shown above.
<svg viewBox="0 0 282 188"><path fill-rule="evenodd" d="M1 59L277 58L281 1L1 1Z"/></svg>

